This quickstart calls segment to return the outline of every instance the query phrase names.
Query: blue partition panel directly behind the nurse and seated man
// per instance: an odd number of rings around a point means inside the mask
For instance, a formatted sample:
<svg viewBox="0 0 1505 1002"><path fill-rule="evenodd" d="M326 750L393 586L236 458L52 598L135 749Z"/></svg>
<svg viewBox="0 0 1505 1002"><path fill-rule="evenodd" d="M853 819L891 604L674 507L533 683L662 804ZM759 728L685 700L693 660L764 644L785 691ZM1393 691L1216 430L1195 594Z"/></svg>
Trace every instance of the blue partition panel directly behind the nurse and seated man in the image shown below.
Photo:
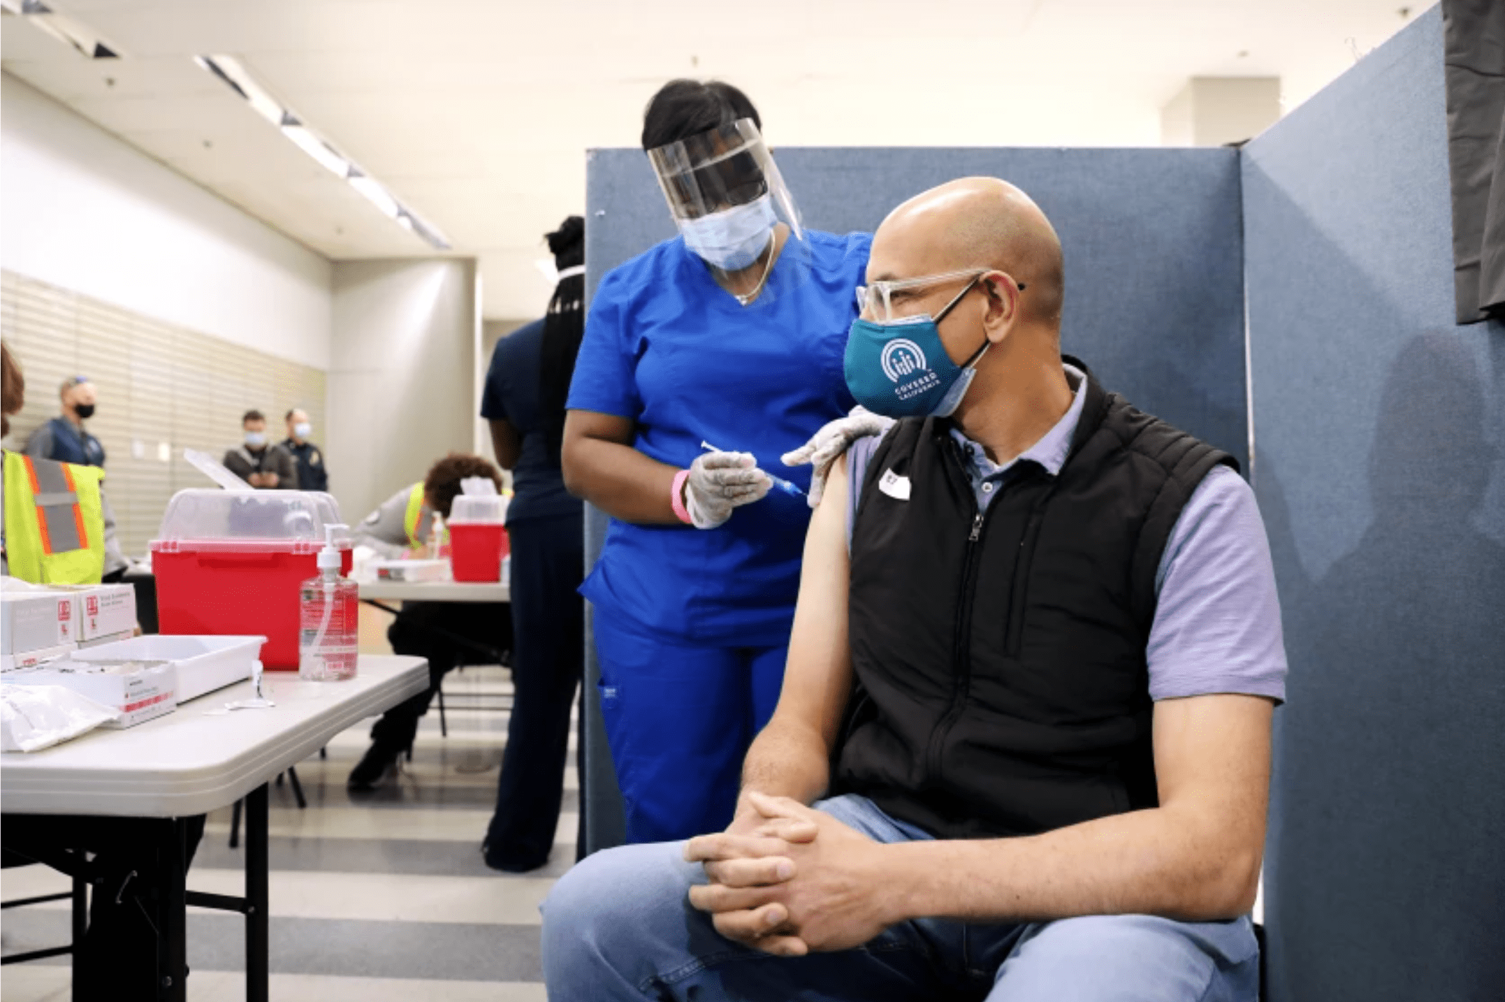
<svg viewBox="0 0 1505 1002"><path fill-rule="evenodd" d="M771 123L777 134L777 123ZM895 205L969 175L1008 179L1066 248L1063 349L1103 385L1240 457L1248 453L1239 155L1228 149L778 149L805 224L871 230ZM587 286L674 235L641 150L593 150ZM594 560L604 519L587 528ZM594 697L594 653L587 653ZM599 715L587 736L590 850L620 840Z"/></svg>

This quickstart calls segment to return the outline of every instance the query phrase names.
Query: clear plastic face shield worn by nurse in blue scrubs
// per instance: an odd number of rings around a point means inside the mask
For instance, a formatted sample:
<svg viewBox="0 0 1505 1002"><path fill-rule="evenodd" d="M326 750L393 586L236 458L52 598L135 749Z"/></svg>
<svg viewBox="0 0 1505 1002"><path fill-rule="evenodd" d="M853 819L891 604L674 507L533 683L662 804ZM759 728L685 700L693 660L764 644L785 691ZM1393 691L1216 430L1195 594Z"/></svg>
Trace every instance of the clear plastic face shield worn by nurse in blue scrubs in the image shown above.
<svg viewBox="0 0 1505 1002"><path fill-rule="evenodd" d="M808 271L799 209L751 119L650 149L649 162L685 245L739 302L772 298Z"/></svg>

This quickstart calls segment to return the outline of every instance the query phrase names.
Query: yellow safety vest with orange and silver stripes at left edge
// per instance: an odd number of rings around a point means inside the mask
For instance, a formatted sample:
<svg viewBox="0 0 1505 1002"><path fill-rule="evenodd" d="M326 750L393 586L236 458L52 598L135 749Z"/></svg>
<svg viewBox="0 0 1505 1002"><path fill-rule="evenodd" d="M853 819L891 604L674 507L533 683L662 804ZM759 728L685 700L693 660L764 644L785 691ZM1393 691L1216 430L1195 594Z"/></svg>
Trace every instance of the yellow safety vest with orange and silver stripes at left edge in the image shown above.
<svg viewBox="0 0 1505 1002"><path fill-rule="evenodd" d="M5 549L12 578L99 584L104 503L98 466L5 454Z"/></svg>

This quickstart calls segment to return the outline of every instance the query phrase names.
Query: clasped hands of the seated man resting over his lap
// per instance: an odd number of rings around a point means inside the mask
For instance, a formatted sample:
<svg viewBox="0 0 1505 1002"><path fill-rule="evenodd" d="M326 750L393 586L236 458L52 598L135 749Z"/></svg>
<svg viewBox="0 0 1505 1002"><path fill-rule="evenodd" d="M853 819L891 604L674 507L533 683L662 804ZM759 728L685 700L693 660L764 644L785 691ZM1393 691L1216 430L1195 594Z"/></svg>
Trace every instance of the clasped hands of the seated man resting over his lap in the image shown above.
<svg viewBox="0 0 1505 1002"><path fill-rule="evenodd" d="M768 954L850 949L901 918L885 849L829 814L748 791L727 830L686 843L685 859L710 880L689 903L727 939Z"/></svg>

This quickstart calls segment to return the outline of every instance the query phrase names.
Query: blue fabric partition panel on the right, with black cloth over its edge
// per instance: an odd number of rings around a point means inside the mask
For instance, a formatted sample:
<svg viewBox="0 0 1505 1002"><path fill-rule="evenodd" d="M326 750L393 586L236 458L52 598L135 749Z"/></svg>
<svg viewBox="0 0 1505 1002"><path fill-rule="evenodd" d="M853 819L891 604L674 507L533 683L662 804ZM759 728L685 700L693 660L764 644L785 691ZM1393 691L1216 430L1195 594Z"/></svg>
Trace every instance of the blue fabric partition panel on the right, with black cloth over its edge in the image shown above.
<svg viewBox="0 0 1505 1002"><path fill-rule="evenodd" d="M1442 60L1434 8L1245 149L1275 1002L1505 997L1505 328L1454 325Z"/></svg>

